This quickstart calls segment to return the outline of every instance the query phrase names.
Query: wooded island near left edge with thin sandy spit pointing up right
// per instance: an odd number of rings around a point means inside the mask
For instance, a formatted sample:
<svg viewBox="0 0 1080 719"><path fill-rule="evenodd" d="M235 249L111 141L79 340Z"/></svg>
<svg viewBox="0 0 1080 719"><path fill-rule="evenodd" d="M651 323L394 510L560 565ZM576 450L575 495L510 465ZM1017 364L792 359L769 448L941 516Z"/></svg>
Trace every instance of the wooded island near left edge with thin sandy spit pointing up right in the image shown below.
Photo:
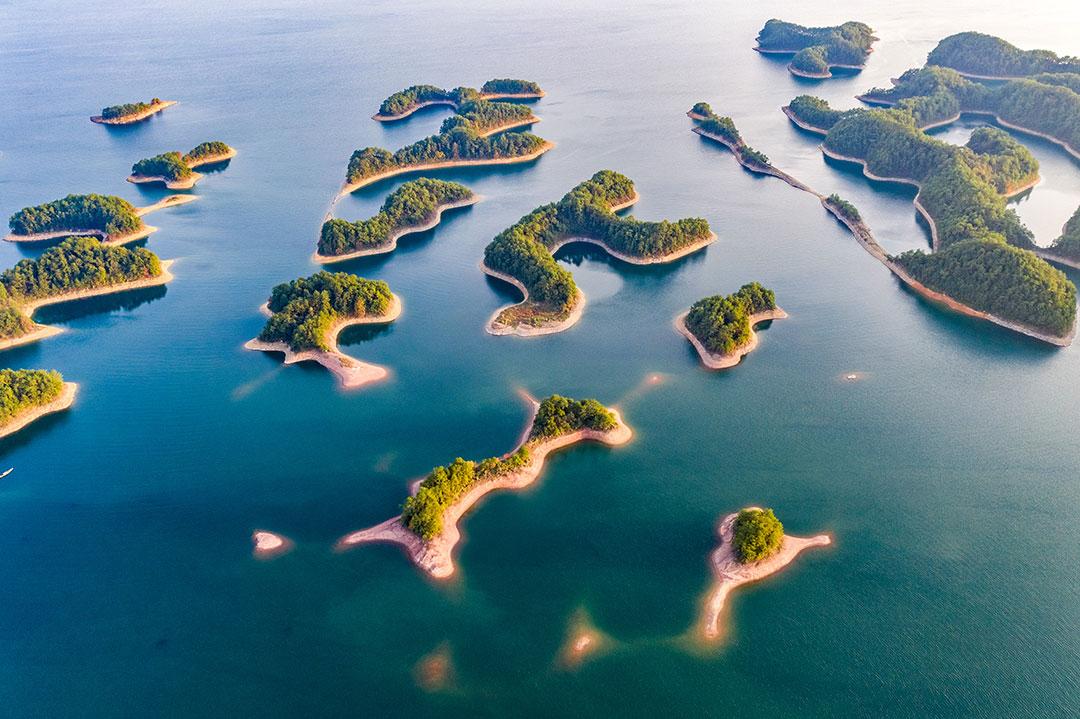
<svg viewBox="0 0 1080 719"><path fill-rule="evenodd" d="M198 200L191 194L174 194L136 207L112 194L69 194L35 207L24 207L11 216L8 242L44 242L58 238L96 236L109 245L141 240L158 228L143 221L144 215Z"/></svg>

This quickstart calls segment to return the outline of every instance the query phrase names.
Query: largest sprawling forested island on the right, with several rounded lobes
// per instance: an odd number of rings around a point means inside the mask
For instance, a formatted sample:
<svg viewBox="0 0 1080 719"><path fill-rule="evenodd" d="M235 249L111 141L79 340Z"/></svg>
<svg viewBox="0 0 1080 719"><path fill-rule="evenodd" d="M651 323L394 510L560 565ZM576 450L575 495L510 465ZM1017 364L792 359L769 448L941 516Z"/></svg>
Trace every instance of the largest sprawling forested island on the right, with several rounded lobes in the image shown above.
<svg viewBox="0 0 1080 719"><path fill-rule="evenodd" d="M833 112L824 100L796 98L788 111L827 133L826 155L861 164L872 179L919 188L915 204L935 252L889 256L864 243L902 280L961 312L1071 342L1076 287L1031 252L1031 232L1005 206L1005 195L1038 179L1026 148L991 127L976 130L964 147L943 143L921 132L907 107Z"/></svg>

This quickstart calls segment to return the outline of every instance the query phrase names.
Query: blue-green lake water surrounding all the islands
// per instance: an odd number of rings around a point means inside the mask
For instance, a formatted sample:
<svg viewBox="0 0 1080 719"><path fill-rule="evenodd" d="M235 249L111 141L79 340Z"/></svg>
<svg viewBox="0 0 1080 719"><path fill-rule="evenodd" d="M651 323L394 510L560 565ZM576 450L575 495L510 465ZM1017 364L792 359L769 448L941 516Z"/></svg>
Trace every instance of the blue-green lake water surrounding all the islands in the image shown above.
<svg viewBox="0 0 1080 719"><path fill-rule="evenodd" d="M812 196L743 172L684 117L710 101L778 166L855 202L890 250L924 247L909 190L826 165L779 107L802 92L854 106L962 29L1080 54L1071 3L924 10L0 3L0 215L68 192L146 204L165 193L124 181L134 161L206 139L240 151L199 202L151 216L173 283L42 311L67 331L0 357L81 384L71 411L0 444L15 467L0 480L0 714L1080 714L1080 351L927 304ZM799 81L751 51L771 16L862 19L881 41L862 73ZM349 153L446 114L380 125L382 97L491 77L541 83L536 132L557 148L440 174L484 202L338 266L404 301L392 326L342 337L390 381L345 393L318 366L242 350L270 287L314 270ZM151 95L180 104L132 128L87 121ZM1029 147L1043 182L1016 206L1048 243L1080 203L1080 163ZM638 217L704 216L719 241L646 269L568 247L581 322L486 335L515 298L477 270L484 246L605 167L637 182ZM339 216L372 215L400 181ZM38 252L3 244L0 266ZM791 318L738 368L704 371L672 317L753 280ZM447 584L392 546L332 552L432 465L510 449L519 388L617 404L635 440L568 450L528 491L492 496ZM751 503L836 544L739 592L725 641L702 650L684 635L714 525ZM295 551L256 561L257 528ZM610 641L570 671L556 657L580 612ZM438 647L454 678L426 692L415 666Z"/></svg>

